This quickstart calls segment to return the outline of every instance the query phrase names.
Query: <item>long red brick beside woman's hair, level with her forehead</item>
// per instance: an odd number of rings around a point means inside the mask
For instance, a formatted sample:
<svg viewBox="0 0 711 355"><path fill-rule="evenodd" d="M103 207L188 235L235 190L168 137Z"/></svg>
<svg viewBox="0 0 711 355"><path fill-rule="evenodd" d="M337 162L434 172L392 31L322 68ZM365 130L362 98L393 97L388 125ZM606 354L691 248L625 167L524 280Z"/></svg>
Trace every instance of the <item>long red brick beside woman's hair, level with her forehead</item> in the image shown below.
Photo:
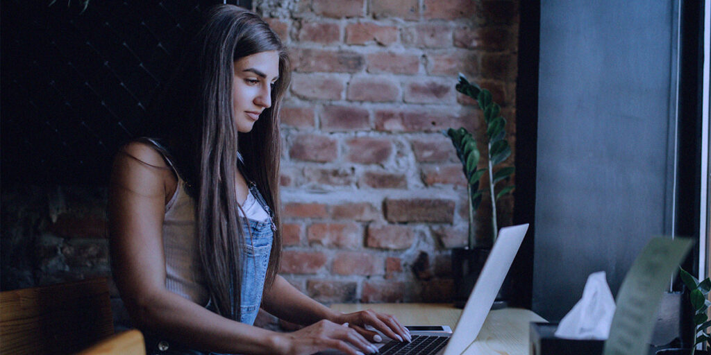
<svg viewBox="0 0 711 355"><path fill-rule="evenodd" d="M360 72L365 67L362 54L352 50L301 48L292 58L296 72Z"/></svg>

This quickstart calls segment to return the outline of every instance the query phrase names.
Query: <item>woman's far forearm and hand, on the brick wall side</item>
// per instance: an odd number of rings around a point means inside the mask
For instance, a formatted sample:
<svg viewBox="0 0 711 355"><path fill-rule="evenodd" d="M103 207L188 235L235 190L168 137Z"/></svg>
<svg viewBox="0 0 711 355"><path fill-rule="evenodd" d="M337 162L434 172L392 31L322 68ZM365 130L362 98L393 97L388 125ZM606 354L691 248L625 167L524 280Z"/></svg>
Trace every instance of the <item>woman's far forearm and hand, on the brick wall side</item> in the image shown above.
<svg viewBox="0 0 711 355"><path fill-rule="evenodd" d="M262 307L274 316L296 324L313 324L319 320L328 320L336 324L349 323L355 326L365 339L379 342L377 333L365 330L365 325L375 327L392 339L410 341L410 332L392 315L365 310L353 313L333 312L330 308L312 300L294 288L281 275L277 275L274 284L265 290Z"/></svg>

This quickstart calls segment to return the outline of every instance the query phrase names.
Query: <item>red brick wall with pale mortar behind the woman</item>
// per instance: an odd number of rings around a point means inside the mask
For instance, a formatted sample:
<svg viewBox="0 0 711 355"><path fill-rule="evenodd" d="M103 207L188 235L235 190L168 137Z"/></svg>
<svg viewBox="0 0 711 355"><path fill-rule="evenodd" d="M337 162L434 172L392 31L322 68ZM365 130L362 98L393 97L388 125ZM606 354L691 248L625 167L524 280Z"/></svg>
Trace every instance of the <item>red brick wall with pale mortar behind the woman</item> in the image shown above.
<svg viewBox="0 0 711 355"><path fill-rule="evenodd" d="M294 62L282 274L323 302L449 300L466 186L441 131L483 124L454 89L462 72L502 104L515 146L518 1L274 2L255 10ZM512 209L508 197L504 224Z"/></svg>

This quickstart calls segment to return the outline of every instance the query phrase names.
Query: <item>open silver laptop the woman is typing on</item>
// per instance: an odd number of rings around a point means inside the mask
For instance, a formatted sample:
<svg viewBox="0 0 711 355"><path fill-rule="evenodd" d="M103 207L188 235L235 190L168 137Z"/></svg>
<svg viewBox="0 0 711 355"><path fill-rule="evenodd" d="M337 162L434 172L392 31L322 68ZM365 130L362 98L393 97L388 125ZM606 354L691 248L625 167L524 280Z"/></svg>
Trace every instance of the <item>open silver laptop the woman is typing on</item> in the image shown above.
<svg viewBox="0 0 711 355"><path fill-rule="evenodd" d="M381 355L459 355L474 342L486 320L498 290L513 263L528 224L508 226L499 231L496 243L471 290L454 333L445 326L407 326L412 343L399 342L387 337L378 346ZM343 354L339 351L321 351L318 354Z"/></svg>

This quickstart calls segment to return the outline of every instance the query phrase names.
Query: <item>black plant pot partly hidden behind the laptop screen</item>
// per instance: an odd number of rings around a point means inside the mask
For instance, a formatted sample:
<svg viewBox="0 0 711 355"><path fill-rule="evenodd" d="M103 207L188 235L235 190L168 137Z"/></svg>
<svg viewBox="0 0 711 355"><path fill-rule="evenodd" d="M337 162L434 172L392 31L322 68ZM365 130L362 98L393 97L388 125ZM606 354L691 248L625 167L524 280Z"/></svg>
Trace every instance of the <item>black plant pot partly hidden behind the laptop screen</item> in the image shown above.
<svg viewBox="0 0 711 355"><path fill-rule="evenodd" d="M451 273L454 278L454 307L464 308L469 299L471 289L474 288L476 279L479 278L481 269L486 263L486 258L491 248L474 247L451 249ZM508 275L503 280L503 285L496 295L496 300L491 306L492 310L506 308L511 299L513 290Z"/></svg>

